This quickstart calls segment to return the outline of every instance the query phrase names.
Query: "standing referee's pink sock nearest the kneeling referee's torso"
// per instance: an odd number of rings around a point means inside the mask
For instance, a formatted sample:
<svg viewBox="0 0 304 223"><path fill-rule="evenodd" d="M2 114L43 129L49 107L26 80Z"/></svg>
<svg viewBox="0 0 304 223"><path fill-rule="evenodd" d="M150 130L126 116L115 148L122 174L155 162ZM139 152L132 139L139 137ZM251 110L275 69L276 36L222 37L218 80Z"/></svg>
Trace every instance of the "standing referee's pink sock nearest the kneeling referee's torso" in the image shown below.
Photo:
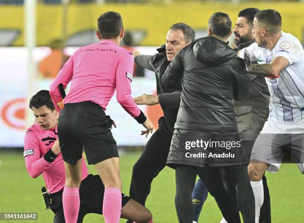
<svg viewBox="0 0 304 223"><path fill-rule="evenodd" d="M66 223L76 223L80 206L79 188L65 187L62 204Z"/></svg>

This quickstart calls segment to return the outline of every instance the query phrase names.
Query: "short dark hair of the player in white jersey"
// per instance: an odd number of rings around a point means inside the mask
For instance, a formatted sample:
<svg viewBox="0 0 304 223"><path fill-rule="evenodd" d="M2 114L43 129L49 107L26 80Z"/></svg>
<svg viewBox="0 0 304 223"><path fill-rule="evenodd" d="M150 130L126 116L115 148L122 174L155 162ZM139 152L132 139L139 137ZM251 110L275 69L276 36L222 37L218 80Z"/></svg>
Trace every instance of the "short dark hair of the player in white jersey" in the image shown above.
<svg viewBox="0 0 304 223"><path fill-rule="evenodd" d="M263 23L269 27L270 32L281 31L282 17L280 13L274 9L261 10L254 16L259 23Z"/></svg>

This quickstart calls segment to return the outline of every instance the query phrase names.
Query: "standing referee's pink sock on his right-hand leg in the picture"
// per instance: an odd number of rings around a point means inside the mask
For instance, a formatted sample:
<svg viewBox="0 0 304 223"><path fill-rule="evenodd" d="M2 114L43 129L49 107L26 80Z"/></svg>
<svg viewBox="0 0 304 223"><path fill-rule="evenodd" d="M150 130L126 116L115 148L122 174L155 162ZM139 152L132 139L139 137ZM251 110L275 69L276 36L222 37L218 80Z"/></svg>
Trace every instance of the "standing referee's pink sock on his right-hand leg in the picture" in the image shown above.
<svg viewBox="0 0 304 223"><path fill-rule="evenodd" d="M106 223L119 223L121 215L121 191L115 187L104 189L103 218Z"/></svg>

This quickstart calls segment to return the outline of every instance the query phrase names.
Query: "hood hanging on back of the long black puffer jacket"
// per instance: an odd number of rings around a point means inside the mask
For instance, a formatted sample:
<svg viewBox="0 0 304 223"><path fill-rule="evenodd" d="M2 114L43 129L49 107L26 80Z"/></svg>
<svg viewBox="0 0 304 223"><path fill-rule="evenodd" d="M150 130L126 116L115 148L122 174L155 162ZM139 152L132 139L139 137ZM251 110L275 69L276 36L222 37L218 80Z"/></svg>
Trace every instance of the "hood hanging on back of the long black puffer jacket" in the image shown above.
<svg viewBox="0 0 304 223"><path fill-rule="evenodd" d="M213 36L197 41L193 46L193 53L197 61L209 66L224 64L237 55L227 43Z"/></svg>

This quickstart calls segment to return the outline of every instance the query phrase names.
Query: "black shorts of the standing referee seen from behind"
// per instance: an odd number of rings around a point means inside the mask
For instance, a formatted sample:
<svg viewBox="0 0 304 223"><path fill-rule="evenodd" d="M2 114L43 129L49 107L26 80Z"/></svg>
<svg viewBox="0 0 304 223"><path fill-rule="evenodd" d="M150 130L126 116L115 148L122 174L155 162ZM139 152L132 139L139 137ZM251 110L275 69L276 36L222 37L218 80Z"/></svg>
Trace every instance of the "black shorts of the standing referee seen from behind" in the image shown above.
<svg viewBox="0 0 304 223"><path fill-rule="evenodd" d="M65 104L60 112L58 138L63 159L76 164L82 147L88 164L119 157L110 127L113 120L103 109L89 101Z"/></svg>

